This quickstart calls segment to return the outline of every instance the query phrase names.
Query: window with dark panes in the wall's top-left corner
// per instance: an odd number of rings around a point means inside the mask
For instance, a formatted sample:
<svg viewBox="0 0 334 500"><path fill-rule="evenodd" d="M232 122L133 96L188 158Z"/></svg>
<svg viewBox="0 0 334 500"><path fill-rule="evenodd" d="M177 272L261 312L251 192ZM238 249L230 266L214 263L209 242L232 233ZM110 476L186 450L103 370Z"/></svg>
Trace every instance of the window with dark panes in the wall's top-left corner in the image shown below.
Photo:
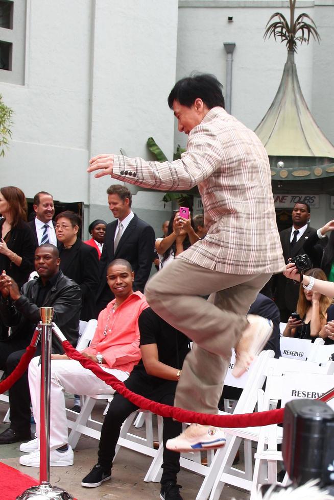
<svg viewBox="0 0 334 500"><path fill-rule="evenodd" d="M27 0L0 0L0 81L25 84Z"/></svg>

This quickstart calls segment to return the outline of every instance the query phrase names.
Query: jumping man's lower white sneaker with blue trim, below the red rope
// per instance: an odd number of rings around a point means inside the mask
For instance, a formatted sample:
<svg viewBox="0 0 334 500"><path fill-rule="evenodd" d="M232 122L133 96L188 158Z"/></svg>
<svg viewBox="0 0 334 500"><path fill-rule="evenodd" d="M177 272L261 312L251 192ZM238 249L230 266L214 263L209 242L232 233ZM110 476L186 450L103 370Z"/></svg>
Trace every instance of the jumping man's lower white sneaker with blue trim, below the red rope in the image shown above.
<svg viewBox="0 0 334 500"><path fill-rule="evenodd" d="M220 427L192 423L182 434L168 439L166 448L173 452L200 452L201 449L220 448L225 443L225 434Z"/></svg>

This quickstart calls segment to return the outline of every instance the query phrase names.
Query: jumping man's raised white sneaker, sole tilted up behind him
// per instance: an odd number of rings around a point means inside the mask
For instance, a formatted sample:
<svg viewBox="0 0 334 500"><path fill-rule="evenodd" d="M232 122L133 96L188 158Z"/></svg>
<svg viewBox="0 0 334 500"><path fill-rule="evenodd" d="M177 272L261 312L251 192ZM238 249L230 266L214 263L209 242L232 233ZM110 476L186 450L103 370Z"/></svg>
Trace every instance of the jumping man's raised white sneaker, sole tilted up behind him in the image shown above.
<svg viewBox="0 0 334 500"><path fill-rule="evenodd" d="M270 319L248 314L247 320L248 327L235 346L236 358L232 370L234 377L241 377L245 373L273 331L273 322Z"/></svg>

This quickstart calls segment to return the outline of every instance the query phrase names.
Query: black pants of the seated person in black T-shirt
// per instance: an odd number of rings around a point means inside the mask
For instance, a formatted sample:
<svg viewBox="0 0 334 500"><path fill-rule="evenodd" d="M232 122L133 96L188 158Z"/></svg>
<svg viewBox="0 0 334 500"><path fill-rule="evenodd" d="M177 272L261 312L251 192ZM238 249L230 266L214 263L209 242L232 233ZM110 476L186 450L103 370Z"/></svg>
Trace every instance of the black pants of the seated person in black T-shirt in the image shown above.
<svg viewBox="0 0 334 500"><path fill-rule="evenodd" d="M176 383L164 381L162 384L152 390L149 383L149 377L141 376L136 370L131 373L125 385L128 389L142 396L152 399L165 405L174 405L174 396ZM151 377L152 379L152 377ZM156 379L155 379L156 380ZM115 394L110 403L108 413L105 416L101 438L99 444L98 463L106 470L112 467L112 461L115 456L115 447L118 437L120 437L121 427L126 418L138 407L133 405L121 394ZM163 472L161 484L167 481L176 482L176 475L180 470L180 454L166 449L165 444L168 439L178 436L182 432L182 424L174 421L172 418L163 418Z"/></svg>

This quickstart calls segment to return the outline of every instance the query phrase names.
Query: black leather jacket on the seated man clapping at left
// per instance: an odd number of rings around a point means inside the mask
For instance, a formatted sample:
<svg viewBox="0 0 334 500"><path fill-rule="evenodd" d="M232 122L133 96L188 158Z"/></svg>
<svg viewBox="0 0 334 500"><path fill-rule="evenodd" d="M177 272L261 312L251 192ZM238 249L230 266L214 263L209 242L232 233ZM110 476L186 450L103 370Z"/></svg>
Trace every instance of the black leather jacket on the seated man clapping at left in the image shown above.
<svg viewBox="0 0 334 500"><path fill-rule="evenodd" d="M36 324L40 321L40 309L36 306L39 287L38 278L22 286L21 296L17 301L1 298L1 319L12 329L7 341L24 338L27 340L27 345L30 343ZM59 271L56 283L47 292L42 304L54 308L53 321L74 346L78 342L81 296L79 285ZM52 352L55 354L64 352L55 335L52 338Z"/></svg>

